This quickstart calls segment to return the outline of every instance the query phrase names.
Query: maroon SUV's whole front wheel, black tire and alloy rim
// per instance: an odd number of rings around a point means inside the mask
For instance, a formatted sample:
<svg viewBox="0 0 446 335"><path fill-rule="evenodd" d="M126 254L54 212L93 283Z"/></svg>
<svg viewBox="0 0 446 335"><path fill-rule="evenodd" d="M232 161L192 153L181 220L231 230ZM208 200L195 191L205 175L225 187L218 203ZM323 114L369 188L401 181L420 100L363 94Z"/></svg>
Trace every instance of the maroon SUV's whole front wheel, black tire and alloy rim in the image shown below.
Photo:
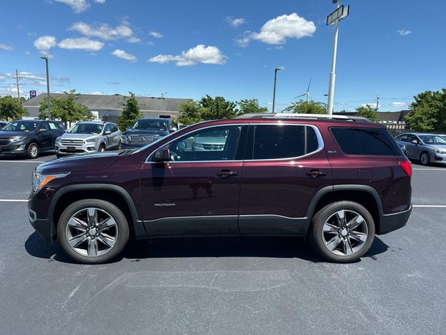
<svg viewBox="0 0 446 335"><path fill-rule="evenodd" d="M116 258L129 237L127 219L114 204L86 199L70 204L57 226L63 251L85 264L109 262Z"/></svg>

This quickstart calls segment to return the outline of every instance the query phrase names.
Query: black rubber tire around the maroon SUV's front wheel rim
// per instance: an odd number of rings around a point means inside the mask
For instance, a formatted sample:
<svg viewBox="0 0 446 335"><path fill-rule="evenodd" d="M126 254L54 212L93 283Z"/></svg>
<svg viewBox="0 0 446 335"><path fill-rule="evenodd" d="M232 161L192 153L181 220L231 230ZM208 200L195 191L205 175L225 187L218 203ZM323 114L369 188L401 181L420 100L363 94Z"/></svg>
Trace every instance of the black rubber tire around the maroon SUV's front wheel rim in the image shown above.
<svg viewBox="0 0 446 335"><path fill-rule="evenodd" d="M75 249L68 243L68 221L73 215L87 208L96 208L100 209L100 211L105 211L116 222L116 242L111 248L108 248L109 250L103 255L96 255L94 257L82 255L78 251L75 251ZM57 237L61 248L68 256L70 256L70 258L72 258L72 260L84 264L102 264L114 260L114 258L121 254L129 239L129 227L125 215L114 204L105 200L86 199L70 204L70 206L63 211L57 225ZM88 240L86 240L85 243L88 244Z"/></svg>

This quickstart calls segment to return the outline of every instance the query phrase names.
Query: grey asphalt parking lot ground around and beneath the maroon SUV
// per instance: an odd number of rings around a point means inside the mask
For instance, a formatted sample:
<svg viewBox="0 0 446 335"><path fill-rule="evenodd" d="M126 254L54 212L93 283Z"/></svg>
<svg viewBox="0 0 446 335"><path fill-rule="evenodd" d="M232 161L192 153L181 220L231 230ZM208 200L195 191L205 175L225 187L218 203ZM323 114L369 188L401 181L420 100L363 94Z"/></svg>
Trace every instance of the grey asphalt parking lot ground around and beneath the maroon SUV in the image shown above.
<svg viewBox="0 0 446 335"><path fill-rule="evenodd" d="M36 161L0 158L0 334L446 334L446 168L413 165L413 215L360 262L303 239L133 242L77 265L26 216Z"/></svg>

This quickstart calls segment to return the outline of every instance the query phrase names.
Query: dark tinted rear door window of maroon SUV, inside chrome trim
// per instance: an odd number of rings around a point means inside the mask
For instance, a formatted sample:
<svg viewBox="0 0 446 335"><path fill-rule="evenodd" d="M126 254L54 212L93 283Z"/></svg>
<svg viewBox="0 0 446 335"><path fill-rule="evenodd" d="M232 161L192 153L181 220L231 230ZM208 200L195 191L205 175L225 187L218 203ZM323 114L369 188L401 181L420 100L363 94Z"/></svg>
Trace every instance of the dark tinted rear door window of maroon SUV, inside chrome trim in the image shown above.
<svg viewBox="0 0 446 335"><path fill-rule="evenodd" d="M314 128L303 125L256 125L252 153L247 159L297 158L319 147Z"/></svg>

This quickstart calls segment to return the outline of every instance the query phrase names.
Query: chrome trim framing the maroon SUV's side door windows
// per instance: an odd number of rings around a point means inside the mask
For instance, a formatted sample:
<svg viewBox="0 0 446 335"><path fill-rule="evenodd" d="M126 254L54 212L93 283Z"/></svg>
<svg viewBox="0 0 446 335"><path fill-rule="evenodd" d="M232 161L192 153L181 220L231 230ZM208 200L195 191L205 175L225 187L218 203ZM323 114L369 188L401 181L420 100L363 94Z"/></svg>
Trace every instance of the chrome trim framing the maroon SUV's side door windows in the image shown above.
<svg viewBox="0 0 446 335"><path fill-rule="evenodd" d="M213 125L213 126L207 126L207 127L203 127L203 128L199 128L199 129L195 129L194 131L190 131L189 133L185 133L184 135L181 135L180 137L176 137L174 138L174 140L170 140L169 142L165 143L162 147L165 147L169 144L171 144L171 142L175 142L176 140L178 140L181 137L190 135L191 133L194 133L195 131L201 131L203 129L207 129L207 128L213 128L213 127L224 127L224 126L308 126L314 129L314 132L316 133L316 138L318 140L318 148L315 151L312 151L308 154L302 155L302 156L297 156L297 157L288 157L288 158L270 158L270 159L239 159L239 160L231 160L231 161L169 161L169 162L165 162L165 163L169 163L169 164L173 164L173 163L222 163L222 162L226 162L226 163L234 163L234 162L275 162L275 161L293 161L295 159L300 159L300 158L306 158L308 156L317 154L319 151L321 151L325 144L323 142L323 137L321 134L321 131L319 131L319 129L314 126L313 124L296 124L294 122L249 122L249 123L245 123L245 124L217 124L217 125ZM160 147L158 147L157 149L160 149ZM148 154L146 161L144 162L144 164L159 164L157 162L153 162L153 161L149 161L149 159L152 158L153 154L155 154L155 151L152 151L150 154Z"/></svg>

